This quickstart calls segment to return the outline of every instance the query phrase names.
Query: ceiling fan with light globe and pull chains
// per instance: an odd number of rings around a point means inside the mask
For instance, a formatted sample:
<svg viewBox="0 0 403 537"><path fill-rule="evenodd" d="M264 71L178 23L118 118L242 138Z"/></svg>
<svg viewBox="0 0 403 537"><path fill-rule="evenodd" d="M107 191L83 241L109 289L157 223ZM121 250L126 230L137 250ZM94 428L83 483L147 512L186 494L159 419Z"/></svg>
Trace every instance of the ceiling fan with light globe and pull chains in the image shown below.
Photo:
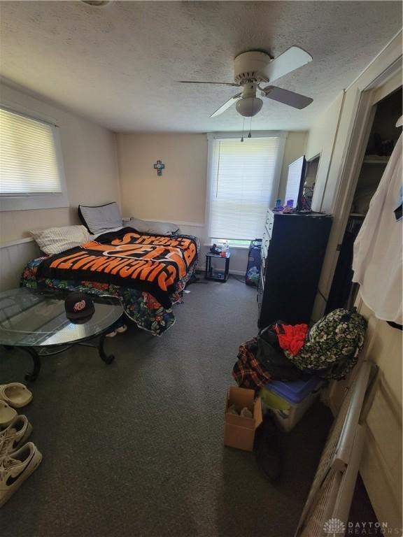
<svg viewBox="0 0 403 537"><path fill-rule="evenodd" d="M256 96L257 90L260 95L268 97L279 103L288 104L293 108L305 108L313 99L299 93L283 90L281 87L265 86L262 83L272 83L277 78L302 67L312 61L312 56L297 46L290 47L283 54L272 59L267 52L251 50L243 52L234 59L234 83L230 82L197 82L195 80L180 80L183 84L218 84L241 87L242 91L232 96L210 117L220 115L227 108L236 103L236 111L244 117L253 117L263 106L263 101Z"/></svg>

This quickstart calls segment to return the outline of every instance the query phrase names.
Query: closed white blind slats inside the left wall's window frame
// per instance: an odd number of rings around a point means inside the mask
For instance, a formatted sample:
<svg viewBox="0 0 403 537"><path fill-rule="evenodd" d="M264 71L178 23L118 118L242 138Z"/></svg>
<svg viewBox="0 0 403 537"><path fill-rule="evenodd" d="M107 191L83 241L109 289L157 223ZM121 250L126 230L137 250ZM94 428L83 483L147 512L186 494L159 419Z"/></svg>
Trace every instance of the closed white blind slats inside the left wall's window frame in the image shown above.
<svg viewBox="0 0 403 537"><path fill-rule="evenodd" d="M54 128L0 108L0 194L62 192Z"/></svg>

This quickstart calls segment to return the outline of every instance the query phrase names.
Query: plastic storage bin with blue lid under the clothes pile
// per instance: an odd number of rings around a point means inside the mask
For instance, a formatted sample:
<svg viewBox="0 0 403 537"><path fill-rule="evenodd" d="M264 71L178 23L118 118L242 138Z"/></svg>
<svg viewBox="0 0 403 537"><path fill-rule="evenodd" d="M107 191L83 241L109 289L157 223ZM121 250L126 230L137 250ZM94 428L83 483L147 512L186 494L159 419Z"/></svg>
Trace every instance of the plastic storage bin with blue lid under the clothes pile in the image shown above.
<svg viewBox="0 0 403 537"><path fill-rule="evenodd" d="M320 391L320 379L269 382L260 392L264 411L270 410L285 431L291 431Z"/></svg>

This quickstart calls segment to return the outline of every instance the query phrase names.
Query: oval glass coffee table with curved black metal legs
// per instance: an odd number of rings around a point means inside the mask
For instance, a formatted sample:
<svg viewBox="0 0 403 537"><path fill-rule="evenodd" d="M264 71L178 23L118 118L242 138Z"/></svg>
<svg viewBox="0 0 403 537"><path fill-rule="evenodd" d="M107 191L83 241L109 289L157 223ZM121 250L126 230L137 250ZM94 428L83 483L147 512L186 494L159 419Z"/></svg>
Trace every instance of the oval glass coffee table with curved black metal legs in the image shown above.
<svg viewBox="0 0 403 537"><path fill-rule="evenodd" d="M34 368L25 375L34 381L41 371L41 357L57 355L73 347L85 345L97 348L99 357L111 364L113 355L106 355L104 340L111 325L123 313L115 296L91 295L94 314L83 324L66 317L64 299L69 293L51 290L10 289L0 293L0 345L6 350L19 348L31 355ZM98 338L96 345L89 343Z"/></svg>

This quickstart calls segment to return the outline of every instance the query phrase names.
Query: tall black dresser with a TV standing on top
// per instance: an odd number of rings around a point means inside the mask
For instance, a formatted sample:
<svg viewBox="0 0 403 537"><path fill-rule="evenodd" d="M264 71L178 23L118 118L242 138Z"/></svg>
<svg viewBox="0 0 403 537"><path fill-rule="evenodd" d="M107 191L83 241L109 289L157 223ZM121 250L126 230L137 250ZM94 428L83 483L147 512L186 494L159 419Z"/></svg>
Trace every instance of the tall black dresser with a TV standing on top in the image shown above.
<svg viewBox="0 0 403 537"><path fill-rule="evenodd" d="M332 217L267 210L257 303L259 328L309 323Z"/></svg>

